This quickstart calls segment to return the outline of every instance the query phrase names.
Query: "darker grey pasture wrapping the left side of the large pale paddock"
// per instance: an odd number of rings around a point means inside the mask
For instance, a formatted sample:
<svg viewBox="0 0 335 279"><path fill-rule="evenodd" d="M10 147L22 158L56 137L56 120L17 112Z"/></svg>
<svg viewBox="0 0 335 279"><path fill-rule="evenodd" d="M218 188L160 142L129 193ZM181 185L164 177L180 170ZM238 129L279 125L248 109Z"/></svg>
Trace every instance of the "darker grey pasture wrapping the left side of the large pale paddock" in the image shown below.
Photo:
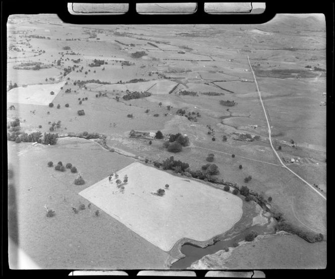
<svg viewBox="0 0 335 279"><path fill-rule="evenodd" d="M15 174L20 247L41 268L163 268L166 253L94 204L88 207L89 201L78 195L133 159L78 138L63 138L57 146L43 147L9 142L8 158ZM78 174L48 168L48 161L72 163L85 184L74 185ZM79 210L81 203L86 209L74 214L71 206ZM44 204L55 211L54 217L45 216ZM98 217L96 210L100 210Z"/></svg>

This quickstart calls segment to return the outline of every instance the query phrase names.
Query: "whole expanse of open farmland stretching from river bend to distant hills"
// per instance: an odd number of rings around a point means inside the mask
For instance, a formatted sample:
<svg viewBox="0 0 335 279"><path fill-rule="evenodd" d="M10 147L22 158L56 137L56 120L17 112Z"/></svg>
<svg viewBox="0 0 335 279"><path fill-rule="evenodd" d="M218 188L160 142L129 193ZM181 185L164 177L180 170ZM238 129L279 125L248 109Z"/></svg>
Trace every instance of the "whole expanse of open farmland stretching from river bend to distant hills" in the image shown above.
<svg viewBox="0 0 335 279"><path fill-rule="evenodd" d="M56 15L13 15L7 131L20 247L41 268L164 269L183 257L184 243L238 237L261 214L270 236L259 236L252 251L281 245L278 260L268 252L267 266L287 268L285 255L306 251L312 255L297 268L324 266L323 27L316 16L286 16L241 28L184 25L181 34L177 25L70 25ZM255 79L275 151L319 194L272 150ZM134 130L148 136L130 137ZM148 134L158 131L161 137ZM40 138L29 142L31 133ZM57 142L46 143L49 133ZM77 173L56 170L60 161ZM128 176L122 192L111 173ZM80 176L85 183L76 185ZM323 241L276 234L278 216ZM192 266L265 268L245 247Z"/></svg>

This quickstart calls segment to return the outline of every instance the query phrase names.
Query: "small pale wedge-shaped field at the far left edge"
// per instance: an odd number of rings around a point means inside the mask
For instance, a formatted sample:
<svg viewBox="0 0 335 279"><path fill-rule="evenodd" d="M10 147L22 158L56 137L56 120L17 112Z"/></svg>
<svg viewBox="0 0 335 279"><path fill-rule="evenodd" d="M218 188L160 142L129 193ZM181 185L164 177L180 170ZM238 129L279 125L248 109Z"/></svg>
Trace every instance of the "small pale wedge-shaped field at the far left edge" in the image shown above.
<svg viewBox="0 0 335 279"><path fill-rule="evenodd" d="M65 82L57 84L28 85L13 88L7 93L8 103L47 106L61 91ZM53 91L54 95L50 95Z"/></svg>

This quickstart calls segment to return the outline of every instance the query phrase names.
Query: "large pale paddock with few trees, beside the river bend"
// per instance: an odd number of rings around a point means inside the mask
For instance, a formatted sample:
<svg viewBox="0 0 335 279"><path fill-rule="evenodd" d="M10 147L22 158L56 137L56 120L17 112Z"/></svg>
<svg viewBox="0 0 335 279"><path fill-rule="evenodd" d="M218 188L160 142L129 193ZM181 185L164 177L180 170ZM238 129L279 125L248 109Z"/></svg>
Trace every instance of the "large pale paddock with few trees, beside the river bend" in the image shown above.
<svg viewBox="0 0 335 279"><path fill-rule="evenodd" d="M124 193L115 176L79 194L164 251L181 238L206 241L228 231L242 216L242 200L206 184L178 177L141 163L118 172L128 176ZM164 196L152 194L159 188Z"/></svg>

